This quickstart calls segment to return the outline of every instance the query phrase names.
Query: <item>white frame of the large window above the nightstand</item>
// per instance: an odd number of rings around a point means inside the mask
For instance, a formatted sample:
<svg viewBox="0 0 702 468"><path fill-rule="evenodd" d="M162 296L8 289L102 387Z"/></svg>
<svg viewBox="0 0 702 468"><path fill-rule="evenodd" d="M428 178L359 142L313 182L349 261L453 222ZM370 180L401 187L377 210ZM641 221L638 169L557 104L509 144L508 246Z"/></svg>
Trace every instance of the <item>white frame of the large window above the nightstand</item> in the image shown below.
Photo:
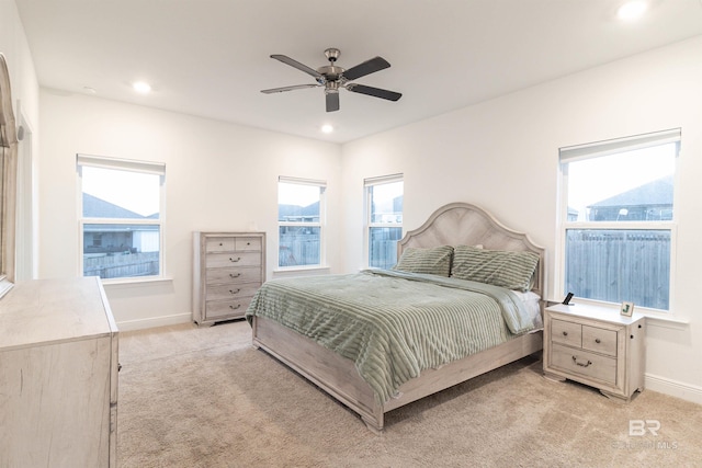
<svg viewBox="0 0 702 468"><path fill-rule="evenodd" d="M558 251L557 251L557 267L556 267L556 293L558 297L565 297L568 293L566 288L566 237L569 229L580 230L618 230L618 231L636 231L636 230L655 230L655 231L668 231L670 232L670 276L668 278L668 308L656 309L650 307L644 307L636 305L637 311L645 311L647 315L659 315L661 317L670 317L673 311L673 298L675 298L675 271L676 271L676 251L677 251L677 230L678 230L678 193L679 193L679 157L681 152L681 136L680 128L672 128L661 132L654 132L642 135L634 135L623 138L615 138L610 140L597 141L585 145L562 147L558 149ZM611 155L622 153L631 150L639 150L650 148L655 146L661 146L666 144L675 142L675 173L673 180L673 194L672 194L672 219L670 220L632 220L632 221L569 221L568 220L568 170L569 162L581 161L586 159L607 157ZM589 299L577 297L581 303L615 305L619 303L611 303L598 299ZM625 299L624 299L625 300Z"/></svg>

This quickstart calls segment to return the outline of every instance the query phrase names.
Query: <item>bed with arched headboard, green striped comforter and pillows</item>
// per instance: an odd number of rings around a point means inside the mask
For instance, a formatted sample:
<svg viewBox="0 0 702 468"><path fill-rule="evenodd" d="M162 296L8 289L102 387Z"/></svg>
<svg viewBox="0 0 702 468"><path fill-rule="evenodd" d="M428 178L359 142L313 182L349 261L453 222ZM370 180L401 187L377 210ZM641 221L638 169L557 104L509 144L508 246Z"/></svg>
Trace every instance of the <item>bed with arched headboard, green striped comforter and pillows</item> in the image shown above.
<svg viewBox="0 0 702 468"><path fill-rule="evenodd" d="M519 274L512 266L507 274L502 266L476 267L475 259L486 255L516 262ZM397 270L387 272L267 282L246 313L256 347L374 432L383 431L388 411L542 350L544 249L525 233L475 205L452 203L405 235L398 259Z"/></svg>

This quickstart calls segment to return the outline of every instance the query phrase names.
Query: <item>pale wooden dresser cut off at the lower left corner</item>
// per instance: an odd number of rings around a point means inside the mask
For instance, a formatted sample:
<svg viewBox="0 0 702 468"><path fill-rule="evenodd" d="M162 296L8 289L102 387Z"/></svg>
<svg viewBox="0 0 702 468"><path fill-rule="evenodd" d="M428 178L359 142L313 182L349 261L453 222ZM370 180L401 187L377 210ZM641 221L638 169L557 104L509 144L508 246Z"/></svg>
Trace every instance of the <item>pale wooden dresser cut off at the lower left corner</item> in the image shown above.
<svg viewBox="0 0 702 468"><path fill-rule="evenodd" d="M0 300L0 467L115 467L118 333L98 277Z"/></svg>

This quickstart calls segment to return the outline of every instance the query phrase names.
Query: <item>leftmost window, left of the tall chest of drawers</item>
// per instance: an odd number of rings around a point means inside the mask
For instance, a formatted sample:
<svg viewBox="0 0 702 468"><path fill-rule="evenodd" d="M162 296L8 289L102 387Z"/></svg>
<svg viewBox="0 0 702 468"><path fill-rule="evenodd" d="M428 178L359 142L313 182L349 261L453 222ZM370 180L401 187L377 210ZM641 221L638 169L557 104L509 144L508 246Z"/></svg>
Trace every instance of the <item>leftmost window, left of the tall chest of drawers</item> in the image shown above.
<svg viewBox="0 0 702 468"><path fill-rule="evenodd" d="M160 276L166 165L78 155L82 275Z"/></svg>

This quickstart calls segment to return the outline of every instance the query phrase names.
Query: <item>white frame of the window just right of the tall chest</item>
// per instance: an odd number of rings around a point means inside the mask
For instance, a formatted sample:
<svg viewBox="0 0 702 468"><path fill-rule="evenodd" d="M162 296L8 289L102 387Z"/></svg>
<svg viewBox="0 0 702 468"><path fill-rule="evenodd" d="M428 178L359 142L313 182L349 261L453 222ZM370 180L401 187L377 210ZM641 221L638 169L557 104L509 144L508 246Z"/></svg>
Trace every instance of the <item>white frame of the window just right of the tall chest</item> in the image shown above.
<svg viewBox="0 0 702 468"><path fill-rule="evenodd" d="M278 236L276 236L276 269L279 271L294 271L294 270L316 270L316 269L325 269L327 267L327 182L322 180L315 179L302 179L302 178L292 178L287 175L279 175L278 178L278 192L279 197L276 205L276 218L280 217L280 184L297 184L297 185L309 185L319 187L319 220L318 221L281 221L278 219ZM290 265L290 266L281 266L281 227L310 227L319 229L319 263L310 264L310 265Z"/></svg>

